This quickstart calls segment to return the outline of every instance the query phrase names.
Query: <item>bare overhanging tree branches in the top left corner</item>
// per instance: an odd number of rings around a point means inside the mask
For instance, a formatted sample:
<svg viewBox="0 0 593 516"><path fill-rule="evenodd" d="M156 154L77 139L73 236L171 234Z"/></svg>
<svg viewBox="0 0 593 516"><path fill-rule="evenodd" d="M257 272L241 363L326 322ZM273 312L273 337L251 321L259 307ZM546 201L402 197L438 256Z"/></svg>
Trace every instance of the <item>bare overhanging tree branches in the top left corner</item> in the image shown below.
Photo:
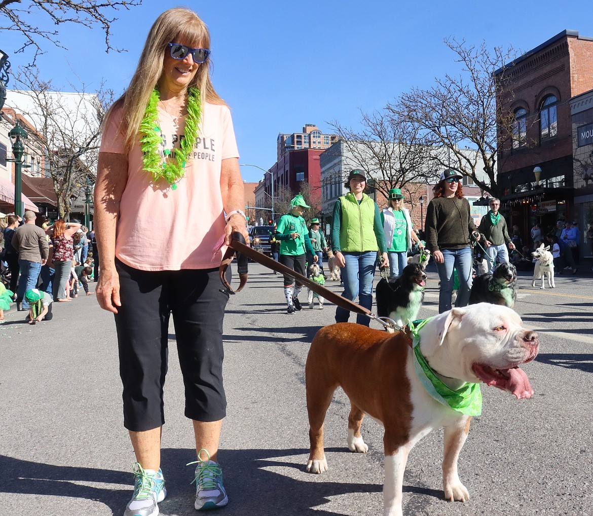
<svg viewBox="0 0 593 516"><path fill-rule="evenodd" d="M23 3L25 5L23 5ZM37 56L43 54L43 43L49 42L65 48L58 39L58 30L48 30L43 26L56 26L76 23L85 27L100 26L105 33L107 52L115 50L111 46L111 23L117 18L110 18L109 11L130 9L141 5L142 0L104 0L103 2L74 2L71 0L0 0L0 31L12 30L21 33L23 46L17 52L24 52L28 47L35 49L32 65ZM38 23L39 20L39 23Z"/></svg>

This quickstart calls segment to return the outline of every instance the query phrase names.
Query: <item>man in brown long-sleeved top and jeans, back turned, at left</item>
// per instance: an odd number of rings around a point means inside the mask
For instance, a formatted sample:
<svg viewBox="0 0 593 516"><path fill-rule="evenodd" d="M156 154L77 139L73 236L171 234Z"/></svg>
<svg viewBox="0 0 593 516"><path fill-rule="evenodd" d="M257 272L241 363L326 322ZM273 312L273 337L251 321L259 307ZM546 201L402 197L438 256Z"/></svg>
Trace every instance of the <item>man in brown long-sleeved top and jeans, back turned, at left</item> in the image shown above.
<svg viewBox="0 0 593 516"><path fill-rule="evenodd" d="M45 231L35 225L37 215L25 211L25 224L14 232L12 247L18 253L21 278L17 288L17 310L28 310L29 302L25 292L37 287L41 267L47 262L49 246Z"/></svg>

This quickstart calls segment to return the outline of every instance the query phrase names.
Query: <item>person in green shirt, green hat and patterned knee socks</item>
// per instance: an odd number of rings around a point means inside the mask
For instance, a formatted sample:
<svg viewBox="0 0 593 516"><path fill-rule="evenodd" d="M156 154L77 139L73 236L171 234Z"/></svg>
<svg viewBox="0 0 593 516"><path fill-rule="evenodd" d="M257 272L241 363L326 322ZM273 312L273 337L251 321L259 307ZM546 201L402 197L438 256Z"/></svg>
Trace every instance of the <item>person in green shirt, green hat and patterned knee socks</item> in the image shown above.
<svg viewBox="0 0 593 516"><path fill-rule="evenodd" d="M313 254L313 261L317 262L317 254L311 246L307 223L302 218L305 208L310 206L307 206L305 199L299 193L291 200L291 211L280 217L276 228L276 240L280 241L280 263L302 276L305 275L305 252ZM298 280L295 281L293 290L292 282L293 279L290 276L284 276L284 295L288 304L286 313L289 314L302 310L298 300L302 285Z"/></svg>

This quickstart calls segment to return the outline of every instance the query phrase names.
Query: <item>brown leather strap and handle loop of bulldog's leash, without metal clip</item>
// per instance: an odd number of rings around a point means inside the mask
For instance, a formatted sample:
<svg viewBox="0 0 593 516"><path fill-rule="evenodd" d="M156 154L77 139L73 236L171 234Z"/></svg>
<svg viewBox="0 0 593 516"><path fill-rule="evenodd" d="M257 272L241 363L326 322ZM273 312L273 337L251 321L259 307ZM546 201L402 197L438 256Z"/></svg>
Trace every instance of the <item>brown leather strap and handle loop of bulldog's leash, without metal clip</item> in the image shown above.
<svg viewBox="0 0 593 516"><path fill-rule="evenodd" d="M240 235L241 238L235 239L236 234ZM219 269L219 275L220 275L222 284L224 286L226 286L228 289L230 289L231 292L232 292L231 286L226 281L226 279L224 277L224 272L227 270L229 263L231 263L231 261L232 261L232 254L234 251L232 251L231 249L234 249L238 253L241 253L241 255L246 256L247 258L251 258L251 260L253 260L254 262L260 263L261 265L263 265L264 267L267 267L268 269L275 270L276 272L279 272L282 275L290 276L291 278L296 279L299 282L299 284L301 284L301 285L307 285L308 288L310 288L313 292L323 296L324 298L326 298L327 301L333 302L333 304L336 304L336 305L338 305L342 308L345 308L346 310L349 310L351 312L354 312L356 314L363 314L363 315L370 317L371 319L377 320L377 317L375 316L375 314L372 314L371 311L368 310L367 308L362 307L361 305L359 305L353 301L347 300L346 298L342 297L341 295L336 294L335 292L332 292L331 290L325 288L324 286L321 286L321 285L315 283L311 279L308 279L305 276L299 274L298 272L295 272L294 270L289 269L289 267L282 265L282 263L276 262L276 260L273 260L269 256L266 256L266 254L263 254L263 253L260 253L259 251L251 249L251 247L249 247L245 244L243 235L241 235L240 233L233 232L231 237L232 237L231 246L227 250L225 257L222 260L221 268ZM229 251L230 251L230 255L229 255ZM228 257L227 255L229 255L230 257ZM225 260L227 260L226 265L225 265ZM224 270L223 270L223 266L224 266ZM245 280L247 281L247 273L245 275ZM239 288L237 289L237 292L240 291L241 288L243 288L243 286L244 286L243 279L241 279L241 284L240 284Z"/></svg>

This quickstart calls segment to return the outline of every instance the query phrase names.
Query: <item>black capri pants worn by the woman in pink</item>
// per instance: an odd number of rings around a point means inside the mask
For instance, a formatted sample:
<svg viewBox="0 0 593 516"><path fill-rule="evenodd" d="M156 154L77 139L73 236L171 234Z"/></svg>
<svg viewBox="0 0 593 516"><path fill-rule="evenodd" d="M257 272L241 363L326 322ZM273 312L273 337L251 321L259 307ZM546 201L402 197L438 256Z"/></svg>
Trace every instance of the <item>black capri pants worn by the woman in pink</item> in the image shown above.
<svg viewBox="0 0 593 516"><path fill-rule="evenodd" d="M149 272L117 259L116 269L122 301L115 322L125 428L141 432L165 422L162 393L171 313L186 417L202 422L224 418L222 321L229 295L218 269Z"/></svg>

